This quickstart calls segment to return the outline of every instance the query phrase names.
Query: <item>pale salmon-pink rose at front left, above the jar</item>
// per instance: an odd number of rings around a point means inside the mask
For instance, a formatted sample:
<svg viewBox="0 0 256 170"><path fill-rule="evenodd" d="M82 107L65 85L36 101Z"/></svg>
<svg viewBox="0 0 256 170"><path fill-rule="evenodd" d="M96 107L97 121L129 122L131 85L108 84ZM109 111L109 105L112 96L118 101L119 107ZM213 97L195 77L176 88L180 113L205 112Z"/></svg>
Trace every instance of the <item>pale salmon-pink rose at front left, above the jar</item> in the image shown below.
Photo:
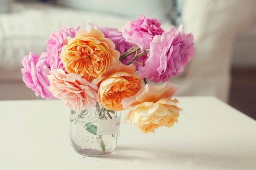
<svg viewBox="0 0 256 170"><path fill-rule="evenodd" d="M77 74L66 74L62 69L51 70L48 75L49 91L65 105L74 110L90 109L98 101L98 86L93 85Z"/></svg>

